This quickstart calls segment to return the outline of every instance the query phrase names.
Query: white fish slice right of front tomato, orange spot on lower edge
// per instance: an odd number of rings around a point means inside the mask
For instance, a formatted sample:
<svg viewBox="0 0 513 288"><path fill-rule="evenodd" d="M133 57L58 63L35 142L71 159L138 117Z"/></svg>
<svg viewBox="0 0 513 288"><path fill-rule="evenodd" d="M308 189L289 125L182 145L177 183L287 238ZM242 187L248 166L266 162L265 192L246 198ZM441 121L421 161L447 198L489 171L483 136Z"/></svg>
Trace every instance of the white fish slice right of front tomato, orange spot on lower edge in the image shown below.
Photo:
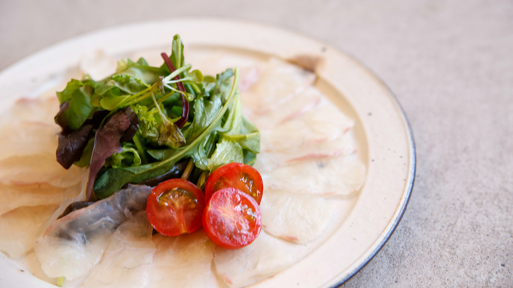
<svg viewBox="0 0 513 288"><path fill-rule="evenodd" d="M266 190L262 197L262 228L268 234L306 243L328 227L336 206L321 196Z"/></svg>

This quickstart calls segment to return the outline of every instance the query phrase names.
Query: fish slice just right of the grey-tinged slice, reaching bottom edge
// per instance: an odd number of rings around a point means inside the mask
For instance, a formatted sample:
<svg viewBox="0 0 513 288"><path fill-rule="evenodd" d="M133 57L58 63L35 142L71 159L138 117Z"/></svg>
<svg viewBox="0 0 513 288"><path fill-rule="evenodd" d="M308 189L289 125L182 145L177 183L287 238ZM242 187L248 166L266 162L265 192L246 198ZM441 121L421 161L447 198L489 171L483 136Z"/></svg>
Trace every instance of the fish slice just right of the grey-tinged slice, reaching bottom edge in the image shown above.
<svg viewBox="0 0 513 288"><path fill-rule="evenodd" d="M102 261L96 264L82 287L146 287L155 254L153 227L140 211L128 218L112 235Z"/></svg>

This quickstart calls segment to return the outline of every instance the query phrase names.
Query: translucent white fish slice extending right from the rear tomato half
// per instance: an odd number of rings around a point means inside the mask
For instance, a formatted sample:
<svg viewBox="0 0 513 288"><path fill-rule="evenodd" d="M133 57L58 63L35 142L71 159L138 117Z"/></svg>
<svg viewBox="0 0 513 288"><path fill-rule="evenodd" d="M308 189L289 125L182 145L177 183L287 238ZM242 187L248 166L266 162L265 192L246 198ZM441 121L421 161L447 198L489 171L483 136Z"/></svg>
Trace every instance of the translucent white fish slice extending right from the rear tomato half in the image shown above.
<svg viewBox="0 0 513 288"><path fill-rule="evenodd" d="M260 155L259 155L260 157ZM263 160L263 161L262 161ZM266 169L273 165L265 155L255 162L261 173L264 191L283 190L317 195L348 195L365 182L366 168L356 154L319 160L307 160Z"/></svg>

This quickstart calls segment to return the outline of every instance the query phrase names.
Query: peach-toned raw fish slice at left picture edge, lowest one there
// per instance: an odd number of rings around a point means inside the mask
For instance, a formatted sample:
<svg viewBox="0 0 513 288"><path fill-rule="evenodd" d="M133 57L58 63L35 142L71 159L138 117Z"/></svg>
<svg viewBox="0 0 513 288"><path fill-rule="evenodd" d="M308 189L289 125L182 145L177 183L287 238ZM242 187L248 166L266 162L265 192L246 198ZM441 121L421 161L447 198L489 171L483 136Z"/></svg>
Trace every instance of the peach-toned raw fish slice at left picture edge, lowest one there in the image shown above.
<svg viewBox="0 0 513 288"><path fill-rule="evenodd" d="M18 258L34 247L57 205L18 207L0 216L0 250Z"/></svg>

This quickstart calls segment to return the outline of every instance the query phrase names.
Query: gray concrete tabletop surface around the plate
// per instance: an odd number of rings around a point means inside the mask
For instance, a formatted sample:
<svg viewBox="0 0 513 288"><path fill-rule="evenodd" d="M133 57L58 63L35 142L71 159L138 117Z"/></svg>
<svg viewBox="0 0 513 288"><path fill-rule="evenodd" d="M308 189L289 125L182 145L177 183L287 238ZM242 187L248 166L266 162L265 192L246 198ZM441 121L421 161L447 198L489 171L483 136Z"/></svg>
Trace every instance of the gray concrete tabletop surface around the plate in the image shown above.
<svg viewBox="0 0 513 288"><path fill-rule="evenodd" d="M411 201L342 287L513 286L513 2L0 0L0 69L102 27L198 15L325 41L376 72L404 107L418 153Z"/></svg>

